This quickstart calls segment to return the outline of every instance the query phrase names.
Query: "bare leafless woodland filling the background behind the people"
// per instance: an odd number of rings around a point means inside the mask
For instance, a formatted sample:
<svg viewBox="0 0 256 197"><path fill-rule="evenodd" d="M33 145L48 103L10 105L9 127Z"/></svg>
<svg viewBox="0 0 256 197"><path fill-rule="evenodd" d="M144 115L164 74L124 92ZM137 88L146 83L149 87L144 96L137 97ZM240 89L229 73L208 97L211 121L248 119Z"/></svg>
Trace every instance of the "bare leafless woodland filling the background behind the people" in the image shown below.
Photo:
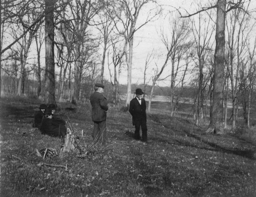
<svg viewBox="0 0 256 197"><path fill-rule="evenodd" d="M256 83L255 2L191 0L191 10L164 2L1 0L1 96L33 95L45 103L79 104L87 101L95 82L102 82L109 101L127 107L134 91L134 39L164 16L168 24L156 36L165 51L149 50L141 65L143 82L138 85L149 97L148 113L154 88L168 79L171 116L184 89L191 88L196 125L209 115L208 131L221 133L231 103L232 128L239 107L250 127ZM156 61L159 53L163 58ZM119 96L120 73L127 77L125 104Z"/></svg>

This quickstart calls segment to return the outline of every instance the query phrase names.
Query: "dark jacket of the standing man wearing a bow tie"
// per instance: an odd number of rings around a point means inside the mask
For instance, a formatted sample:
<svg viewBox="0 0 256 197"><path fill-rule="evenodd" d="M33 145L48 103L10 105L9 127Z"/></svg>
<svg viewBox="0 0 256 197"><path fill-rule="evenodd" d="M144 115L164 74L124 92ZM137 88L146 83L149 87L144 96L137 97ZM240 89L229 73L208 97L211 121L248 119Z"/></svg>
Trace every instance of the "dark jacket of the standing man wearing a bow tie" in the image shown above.
<svg viewBox="0 0 256 197"><path fill-rule="evenodd" d="M141 99L141 105L138 101L138 99L135 97L130 102L129 112L132 115L132 125L135 125L136 121L146 121L147 115L146 115L146 102L142 98Z"/></svg>

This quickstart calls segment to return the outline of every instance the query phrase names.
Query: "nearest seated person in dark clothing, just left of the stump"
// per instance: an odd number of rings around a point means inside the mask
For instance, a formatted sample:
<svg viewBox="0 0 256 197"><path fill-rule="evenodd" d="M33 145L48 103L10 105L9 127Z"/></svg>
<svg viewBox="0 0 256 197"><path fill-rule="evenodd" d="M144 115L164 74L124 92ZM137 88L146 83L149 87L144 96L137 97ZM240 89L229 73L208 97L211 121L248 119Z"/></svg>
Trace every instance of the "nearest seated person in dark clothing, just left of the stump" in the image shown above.
<svg viewBox="0 0 256 197"><path fill-rule="evenodd" d="M44 117L41 123L41 133L54 137L64 138L67 133L65 127L66 121L61 118L54 118L51 109L44 111Z"/></svg>

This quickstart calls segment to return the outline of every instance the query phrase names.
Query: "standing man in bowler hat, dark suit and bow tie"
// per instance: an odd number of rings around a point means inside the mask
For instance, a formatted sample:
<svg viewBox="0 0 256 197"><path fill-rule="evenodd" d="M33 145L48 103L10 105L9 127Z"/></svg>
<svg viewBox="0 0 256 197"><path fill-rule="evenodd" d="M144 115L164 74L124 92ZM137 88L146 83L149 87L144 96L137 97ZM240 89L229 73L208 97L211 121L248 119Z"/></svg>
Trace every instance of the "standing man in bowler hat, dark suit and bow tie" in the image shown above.
<svg viewBox="0 0 256 197"><path fill-rule="evenodd" d="M130 102L129 112L132 115L132 125L135 126L134 138L140 140L140 127L142 130L142 141L147 142L147 115L146 102L143 98L143 91L136 89L136 97Z"/></svg>

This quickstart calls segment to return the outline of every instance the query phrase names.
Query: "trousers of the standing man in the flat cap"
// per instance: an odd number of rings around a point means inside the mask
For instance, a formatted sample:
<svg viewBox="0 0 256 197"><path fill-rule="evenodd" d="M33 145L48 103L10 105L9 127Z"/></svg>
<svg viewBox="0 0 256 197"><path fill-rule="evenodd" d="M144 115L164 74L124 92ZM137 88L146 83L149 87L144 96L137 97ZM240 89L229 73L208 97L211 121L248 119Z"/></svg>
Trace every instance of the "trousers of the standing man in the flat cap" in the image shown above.
<svg viewBox="0 0 256 197"><path fill-rule="evenodd" d="M93 142L104 145L106 142L107 125L106 121L93 122Z"/></svg>

